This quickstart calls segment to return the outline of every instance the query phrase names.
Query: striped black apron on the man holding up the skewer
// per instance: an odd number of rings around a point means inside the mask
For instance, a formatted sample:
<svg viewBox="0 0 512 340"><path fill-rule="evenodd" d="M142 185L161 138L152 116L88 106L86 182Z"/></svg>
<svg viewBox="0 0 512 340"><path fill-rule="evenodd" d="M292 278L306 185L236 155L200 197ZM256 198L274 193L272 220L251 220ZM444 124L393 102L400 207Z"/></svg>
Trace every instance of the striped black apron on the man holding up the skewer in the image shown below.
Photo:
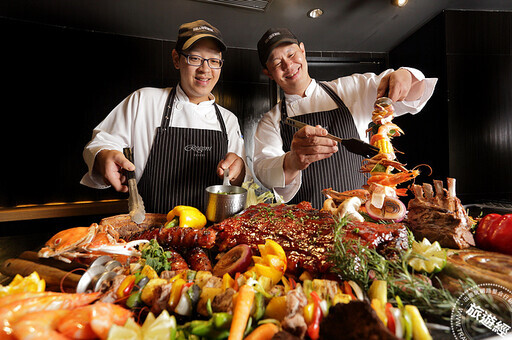
<svg viewBox="0 0 512 340"><path fill-rule="evenodd" d="M307 113L293 118L308 125L321 125L330 134L341 138L359 139L352 114L341 98L327 85L323 83L318 83L318 85L336 102L338 108L331 111ZM286 101L283 98L281 100L280 125L285 152L290 151L293 135L297 131L284 123L287 116ZM322 189L333 188L340 192L360 189L366 183L364 175L359 172L362 160L362 156L348 152L342 145L338 145L338 152L330 158L313 162L302 171L302 185L289 203L308 201L313 207L320 209L326 199L322 194Z"/></svg>

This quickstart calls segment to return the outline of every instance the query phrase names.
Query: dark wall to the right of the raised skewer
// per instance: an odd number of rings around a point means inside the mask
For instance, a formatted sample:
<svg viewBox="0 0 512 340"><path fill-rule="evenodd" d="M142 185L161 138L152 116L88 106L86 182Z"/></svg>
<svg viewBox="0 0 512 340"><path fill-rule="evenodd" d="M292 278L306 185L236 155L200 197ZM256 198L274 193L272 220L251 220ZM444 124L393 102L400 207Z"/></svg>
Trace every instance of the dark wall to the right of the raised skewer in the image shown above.
<svg viewBox="0 0 512 340"><path fill-rule="evenodd" d="M422 113L397 119L408 163L456 178L463 203L512 200L512 12L445 11L389 59L439 78Z"/></svg>

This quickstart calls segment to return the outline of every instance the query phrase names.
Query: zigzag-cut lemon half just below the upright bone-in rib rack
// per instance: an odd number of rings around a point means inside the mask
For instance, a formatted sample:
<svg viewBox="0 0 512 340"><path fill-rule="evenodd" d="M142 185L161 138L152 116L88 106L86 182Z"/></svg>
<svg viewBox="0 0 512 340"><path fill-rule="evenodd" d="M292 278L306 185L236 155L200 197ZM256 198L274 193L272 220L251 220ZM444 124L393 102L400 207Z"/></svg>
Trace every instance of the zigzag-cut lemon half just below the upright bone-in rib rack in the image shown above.
<svg viewBox="0 0 512 340"><path fill-rule="evenodd" d="M439 242L431 244L424 238L421 242L413 241L409 266L417 272L437 273L446 266L446 257L446 251L441 248Z"/></svg>

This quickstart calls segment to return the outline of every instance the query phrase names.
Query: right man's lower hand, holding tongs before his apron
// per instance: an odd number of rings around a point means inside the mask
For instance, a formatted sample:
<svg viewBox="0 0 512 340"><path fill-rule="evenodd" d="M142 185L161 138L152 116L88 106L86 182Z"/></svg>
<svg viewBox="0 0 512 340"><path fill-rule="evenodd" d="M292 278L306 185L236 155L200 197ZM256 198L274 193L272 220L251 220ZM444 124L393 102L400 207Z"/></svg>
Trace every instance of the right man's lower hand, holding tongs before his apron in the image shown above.
<svg viewBox="0 0 512 340"><path fill-rule="evenodd" d="M311 163L331 157L338 151L337 142L326 138L320 125L305 126L293 135L290 151L284 158L285 183L290 184Z"/></svg>

